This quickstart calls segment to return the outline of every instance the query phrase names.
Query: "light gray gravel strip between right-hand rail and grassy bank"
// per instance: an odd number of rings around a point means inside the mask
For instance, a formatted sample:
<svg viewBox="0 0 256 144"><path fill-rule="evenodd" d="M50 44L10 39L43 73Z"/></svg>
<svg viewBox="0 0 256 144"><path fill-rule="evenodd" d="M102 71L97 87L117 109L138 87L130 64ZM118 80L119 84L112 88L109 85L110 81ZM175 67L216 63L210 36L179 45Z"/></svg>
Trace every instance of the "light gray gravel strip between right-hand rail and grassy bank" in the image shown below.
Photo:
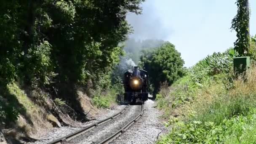
<svg viewBox="0 0 256 144"><path fill-rule="evenodd" d="M144 114L122 135L109 144L154 144L168 130L160 120L162 113L154 108L155 102L145 101Z"/></svg>

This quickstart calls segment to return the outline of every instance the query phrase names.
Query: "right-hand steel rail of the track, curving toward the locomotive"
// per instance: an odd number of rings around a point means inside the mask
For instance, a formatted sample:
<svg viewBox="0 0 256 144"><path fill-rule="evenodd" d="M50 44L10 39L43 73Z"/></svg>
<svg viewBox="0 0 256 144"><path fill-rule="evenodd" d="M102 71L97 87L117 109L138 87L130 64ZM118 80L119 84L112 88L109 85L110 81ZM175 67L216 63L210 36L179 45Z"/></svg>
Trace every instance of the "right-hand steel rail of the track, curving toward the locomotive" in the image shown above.
<svg viewBox="0 0 256 144"><path fill-rule="evenodd" d="M122 133L124 133L128 128L130 128L131 125L133 125L133 123L135 123L137 120L139 120L139 118L141 118L141 116L143 115L143 112L144 112L144 105L141 104L141 113L139 115L137 115L137 117L135 117L133 120L131 120L128 124L126 124L119 131L117 131L113 135L111 135L111 136L107 137L106 139L104 139L103 141L101 141L99 144L109 144L109 142L112 142L114 139L116 139L118 136L120 136Z"/></svg>

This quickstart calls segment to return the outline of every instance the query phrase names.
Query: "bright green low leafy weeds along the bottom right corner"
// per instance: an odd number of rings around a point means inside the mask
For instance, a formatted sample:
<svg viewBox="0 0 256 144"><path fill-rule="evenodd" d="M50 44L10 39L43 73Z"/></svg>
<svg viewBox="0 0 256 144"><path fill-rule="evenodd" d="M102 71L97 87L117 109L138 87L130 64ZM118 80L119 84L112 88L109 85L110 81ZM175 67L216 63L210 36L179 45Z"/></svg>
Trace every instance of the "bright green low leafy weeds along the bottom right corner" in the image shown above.
<svg viewBox="0 0 256 144"><path fill-rule="evenodd" d="M176 123L172 131L161 138L157 144L176 143L227 143L248 144L256 141L256 109L248 115L224 118L220 124L213 122L189 121Z"/></svg>

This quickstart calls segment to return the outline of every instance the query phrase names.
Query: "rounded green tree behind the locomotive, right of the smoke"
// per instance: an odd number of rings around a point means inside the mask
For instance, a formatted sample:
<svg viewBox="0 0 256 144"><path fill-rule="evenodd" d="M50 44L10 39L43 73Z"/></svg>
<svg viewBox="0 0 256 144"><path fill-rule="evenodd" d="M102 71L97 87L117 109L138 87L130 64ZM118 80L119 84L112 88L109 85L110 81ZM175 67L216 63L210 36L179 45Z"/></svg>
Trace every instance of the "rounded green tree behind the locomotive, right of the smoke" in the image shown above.
<svg viewBox="0 0 256 144"><path fill-rule="evenodd" d="M159 48L143 51L140 66L149 73L149 82L152 84L155 95L159 91L160 83L171 85L184 75L184 60L175 46L165 42Z"/></svg>

